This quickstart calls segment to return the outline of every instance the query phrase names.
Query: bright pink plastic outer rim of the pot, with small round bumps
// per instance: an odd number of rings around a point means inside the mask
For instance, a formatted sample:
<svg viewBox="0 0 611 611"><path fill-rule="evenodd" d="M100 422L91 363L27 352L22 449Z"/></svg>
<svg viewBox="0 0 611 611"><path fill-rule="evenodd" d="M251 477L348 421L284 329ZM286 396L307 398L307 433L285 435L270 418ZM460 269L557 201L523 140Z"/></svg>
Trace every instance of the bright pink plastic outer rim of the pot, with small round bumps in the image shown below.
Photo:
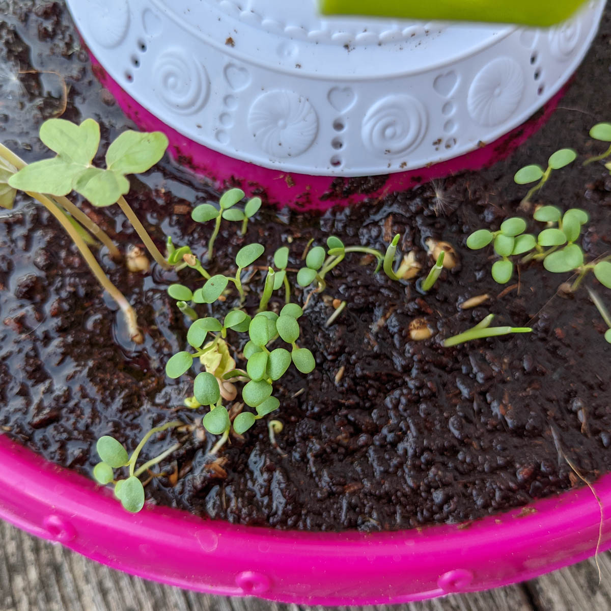
<svg viewBox="0 0 611 611"><path fill-rule="evenodd" d="M147 505L0 436L0 517L115 569L183 588L298 604L409 602L531 579L593 554L601 515L588 488L468 525L308 533L232 525ZM611 503L611 475L595 484ZM600 550L611 546L603 522Z"/></svg>

